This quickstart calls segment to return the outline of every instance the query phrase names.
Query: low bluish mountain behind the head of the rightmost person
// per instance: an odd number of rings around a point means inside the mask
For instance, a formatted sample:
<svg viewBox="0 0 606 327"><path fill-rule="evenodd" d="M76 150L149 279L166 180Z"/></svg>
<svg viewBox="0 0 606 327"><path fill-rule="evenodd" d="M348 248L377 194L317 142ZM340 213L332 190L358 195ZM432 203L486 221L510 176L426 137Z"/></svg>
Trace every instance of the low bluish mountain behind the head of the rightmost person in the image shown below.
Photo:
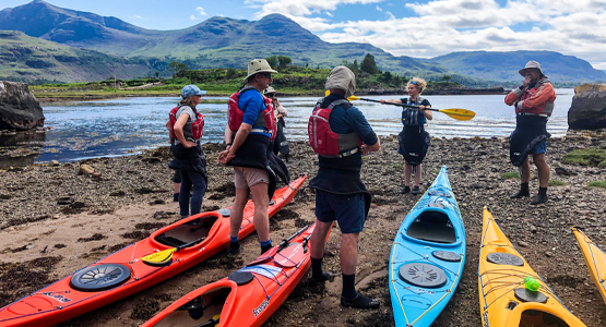
<svg viewBox="0 0 606 327"><path fill-rule="evenodd" d="M552 51L512 52L452 52L428 59L427 62L441 64L454 73L489 81L521 81L518 71L530 60L538 61L543 72L552 82L606 81L606 73L594 69L585 60Z"/></svg>

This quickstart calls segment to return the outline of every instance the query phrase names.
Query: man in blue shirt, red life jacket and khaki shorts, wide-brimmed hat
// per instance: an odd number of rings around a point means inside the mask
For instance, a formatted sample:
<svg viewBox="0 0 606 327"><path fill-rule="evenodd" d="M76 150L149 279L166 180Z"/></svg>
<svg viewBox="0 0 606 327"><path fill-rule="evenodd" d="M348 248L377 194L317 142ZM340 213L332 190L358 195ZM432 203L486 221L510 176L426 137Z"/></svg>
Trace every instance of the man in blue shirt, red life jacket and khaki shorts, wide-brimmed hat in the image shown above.
<svg viewBox="0 0 606 327"><path fill-rule="evenodd" d="M270 149L270 140L275 135L275 118L272 101L262 95L270 86L274 71L266 60L256 59L248 64L246 85L229 98L228 124L225 129L227 148L218 161L234 167L236 198L229 216L230 257L240 253L238 233L249 194L254 206L254 228L261 243L261 253L272 247L268 203L276 187L276 173L286 166ZM273 157L272 157L273 156ZM272 169L277 160L280 169ZM287 170L286 170L287 171ZM283 178L284 180L284 178Z"/></svg>

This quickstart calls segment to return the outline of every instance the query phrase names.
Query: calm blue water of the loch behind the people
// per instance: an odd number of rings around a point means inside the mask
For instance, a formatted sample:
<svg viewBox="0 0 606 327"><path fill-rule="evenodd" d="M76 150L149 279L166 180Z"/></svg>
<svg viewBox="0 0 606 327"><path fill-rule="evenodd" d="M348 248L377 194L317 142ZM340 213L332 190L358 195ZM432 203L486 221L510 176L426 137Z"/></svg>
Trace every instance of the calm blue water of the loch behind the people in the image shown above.
<svg viewBox="0 0 606 327"><path fill-rule="evenodd" d="M555 137L565 135L568 130L567 114L574 90L557 89L557 95L556 109L547 124L548 131ZM432 136L438 137L507 136L515 128L515 117L513 109L504 105L503 98L503 95L427 96L433 108L464 108L476 112L476 117L466 122L433 112L433 120L429 122L427 130ZM285 131L289 140L307 138L307 119L318 97L281 98L281 102L288 110ZM41 146L41 154L33 159L72 161L122 156L168 145L165 122L168 111L177 101L178 98L162 97L47 105L44 107L45 125L52 129L46 132L43 140L36 140ZM379 135L397 134L402 129L399 107L365 101L356 101L355 105ZM225 104L199 106L205 120L204 142L223 141L227 121L226 108ZM11 141L4 140L4 143L7 142Z"/></svg>

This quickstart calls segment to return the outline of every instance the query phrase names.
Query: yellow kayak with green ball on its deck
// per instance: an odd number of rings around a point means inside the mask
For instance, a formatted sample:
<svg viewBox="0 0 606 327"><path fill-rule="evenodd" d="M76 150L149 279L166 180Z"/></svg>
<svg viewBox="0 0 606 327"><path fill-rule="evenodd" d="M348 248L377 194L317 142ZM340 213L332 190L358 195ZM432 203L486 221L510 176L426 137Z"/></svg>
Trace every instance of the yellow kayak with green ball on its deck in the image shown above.
<svg viewBox="0 0 606 327"><path fill-rule="evenodd" d="M478 286L483 327L585 326L528 266L487 207L484 207Z"/></svg>

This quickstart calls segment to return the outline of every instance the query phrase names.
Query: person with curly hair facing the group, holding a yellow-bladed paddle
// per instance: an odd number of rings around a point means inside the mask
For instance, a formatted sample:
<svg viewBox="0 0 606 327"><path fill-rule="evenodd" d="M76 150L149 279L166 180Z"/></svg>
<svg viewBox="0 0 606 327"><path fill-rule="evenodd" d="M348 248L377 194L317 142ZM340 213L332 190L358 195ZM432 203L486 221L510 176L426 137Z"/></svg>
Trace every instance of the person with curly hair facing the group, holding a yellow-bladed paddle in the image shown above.
<svg viewBox="0 0 606 327"><path fill-rule="evenodd" d="M425 131L427 120L433 119L430 110L431 104L420 97L427 87L427 82L419 77L414 77L408 82L408 97L402 99L381 100L381 104L404 104L418 106L417 108L402 108L402 132L397 135L400 148L397 153L404 157L404 189L400 193L420 194L419 184L423 173L423 159L427 155L431 136ZM415 185L411 191L411 175L415 170Z"/></svg>

